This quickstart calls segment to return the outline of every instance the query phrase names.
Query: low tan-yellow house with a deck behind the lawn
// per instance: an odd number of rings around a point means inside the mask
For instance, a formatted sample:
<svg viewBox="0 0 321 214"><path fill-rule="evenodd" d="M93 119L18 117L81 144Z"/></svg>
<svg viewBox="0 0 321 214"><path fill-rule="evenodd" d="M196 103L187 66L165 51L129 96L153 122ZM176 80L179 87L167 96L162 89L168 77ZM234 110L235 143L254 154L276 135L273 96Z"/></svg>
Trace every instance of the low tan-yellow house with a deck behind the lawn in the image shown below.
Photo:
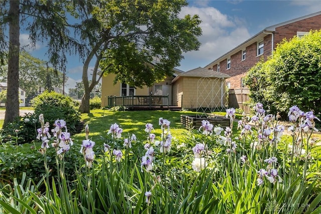
<svg viewBox="0 0 321 214"><path fill-rule="evenodd" d="M143 88L134 88L120 82L114 85L114 78L114 74L108 74L102 78L102 106L113 105L109 102L115 102L115 99L111 101L108 97L119 97L120 99L123 97L120 104L124 105L148 105L149 102L144 100L138 101L141 103L138 104L137 99L148 99L147 96L152 95L155 97L168 96L168 103L165 102L165 98L159 98L153 104L197 109L198 105L225 107L225 79L229 76L204 68L196 68L188 72L174 69L173 76L167 77L164 81L155 83L151 87L145 86Z"/></svg>

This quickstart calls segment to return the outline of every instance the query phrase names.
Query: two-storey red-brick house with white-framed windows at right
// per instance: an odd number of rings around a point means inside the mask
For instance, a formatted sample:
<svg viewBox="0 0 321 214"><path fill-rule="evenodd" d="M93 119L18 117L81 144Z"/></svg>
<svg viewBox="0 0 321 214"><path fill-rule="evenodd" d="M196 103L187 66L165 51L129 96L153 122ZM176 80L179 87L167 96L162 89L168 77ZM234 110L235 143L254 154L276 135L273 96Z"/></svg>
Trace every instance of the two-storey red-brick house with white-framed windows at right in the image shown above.
<svg viewBox="0 0 321 214"><path fill-rule="evenodd" d="M273 54L277 44L283 39L302 37L310 30L321 29L321 12L293 19L263 29L258 34L215 59L204 68L231 76L226 80L230 88L230 107L243 108L242 103L248 99L249 92L243 84L243 77L261 58L264 60ZM245 93L245 94L244 94Z"/></svg>

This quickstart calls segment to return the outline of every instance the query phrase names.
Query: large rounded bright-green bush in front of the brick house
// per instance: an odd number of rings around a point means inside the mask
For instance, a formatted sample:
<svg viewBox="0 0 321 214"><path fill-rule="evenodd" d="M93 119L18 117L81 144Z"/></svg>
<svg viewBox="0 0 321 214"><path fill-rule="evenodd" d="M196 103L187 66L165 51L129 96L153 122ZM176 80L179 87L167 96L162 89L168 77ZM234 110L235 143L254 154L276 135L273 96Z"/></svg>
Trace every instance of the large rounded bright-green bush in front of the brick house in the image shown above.
<svg viewBox="0 0 321 214"><path fill-rule="evenodd" d="M247 73L250 97L271 113L297 105L303 111L321 112L321 31L277 46L266 62L260 61Z"/></svg>

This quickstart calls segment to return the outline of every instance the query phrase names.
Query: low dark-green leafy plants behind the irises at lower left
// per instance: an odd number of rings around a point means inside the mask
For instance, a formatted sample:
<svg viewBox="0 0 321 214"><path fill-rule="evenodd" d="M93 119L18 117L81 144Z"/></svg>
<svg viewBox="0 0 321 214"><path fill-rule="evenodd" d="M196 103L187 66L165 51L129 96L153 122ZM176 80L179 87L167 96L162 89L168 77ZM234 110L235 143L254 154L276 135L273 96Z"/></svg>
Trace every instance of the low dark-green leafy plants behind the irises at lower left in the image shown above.
<svg viewBox="0 0 321 214"><path fill-rule="evenodd" d="M19 146L18 152L15 145L6 144L0 147L0 183L12 183L14 178L20 179L23 172L27 173L28 178L38 183L45 175L44 155L38 151L40 145L40 143L36 143L36 146L35 144L24 144ZM82 160L78 149L79 147L72 147L64 157L66 178L69 181L74 180L75 168ZM47 149L50 175L57 177L55 156L54 148Z"/></svg>

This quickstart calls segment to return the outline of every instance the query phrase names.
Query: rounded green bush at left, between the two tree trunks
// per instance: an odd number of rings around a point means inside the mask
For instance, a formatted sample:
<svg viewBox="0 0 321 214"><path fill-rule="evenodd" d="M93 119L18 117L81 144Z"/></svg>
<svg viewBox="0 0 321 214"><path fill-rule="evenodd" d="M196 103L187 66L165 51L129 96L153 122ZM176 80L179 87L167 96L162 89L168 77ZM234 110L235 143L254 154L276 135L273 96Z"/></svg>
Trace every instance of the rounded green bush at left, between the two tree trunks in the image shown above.
<svg viewBox="0 0 321 214"><path fill-rule="evenodd" d="M45 122L48 121L52 125L57 119L63 119L67 123L68 132L71 134L78 132L77 130L81 126L80 113L70 97L45 91L35 97L32 102L35 114L44 114Z"/></svg>

